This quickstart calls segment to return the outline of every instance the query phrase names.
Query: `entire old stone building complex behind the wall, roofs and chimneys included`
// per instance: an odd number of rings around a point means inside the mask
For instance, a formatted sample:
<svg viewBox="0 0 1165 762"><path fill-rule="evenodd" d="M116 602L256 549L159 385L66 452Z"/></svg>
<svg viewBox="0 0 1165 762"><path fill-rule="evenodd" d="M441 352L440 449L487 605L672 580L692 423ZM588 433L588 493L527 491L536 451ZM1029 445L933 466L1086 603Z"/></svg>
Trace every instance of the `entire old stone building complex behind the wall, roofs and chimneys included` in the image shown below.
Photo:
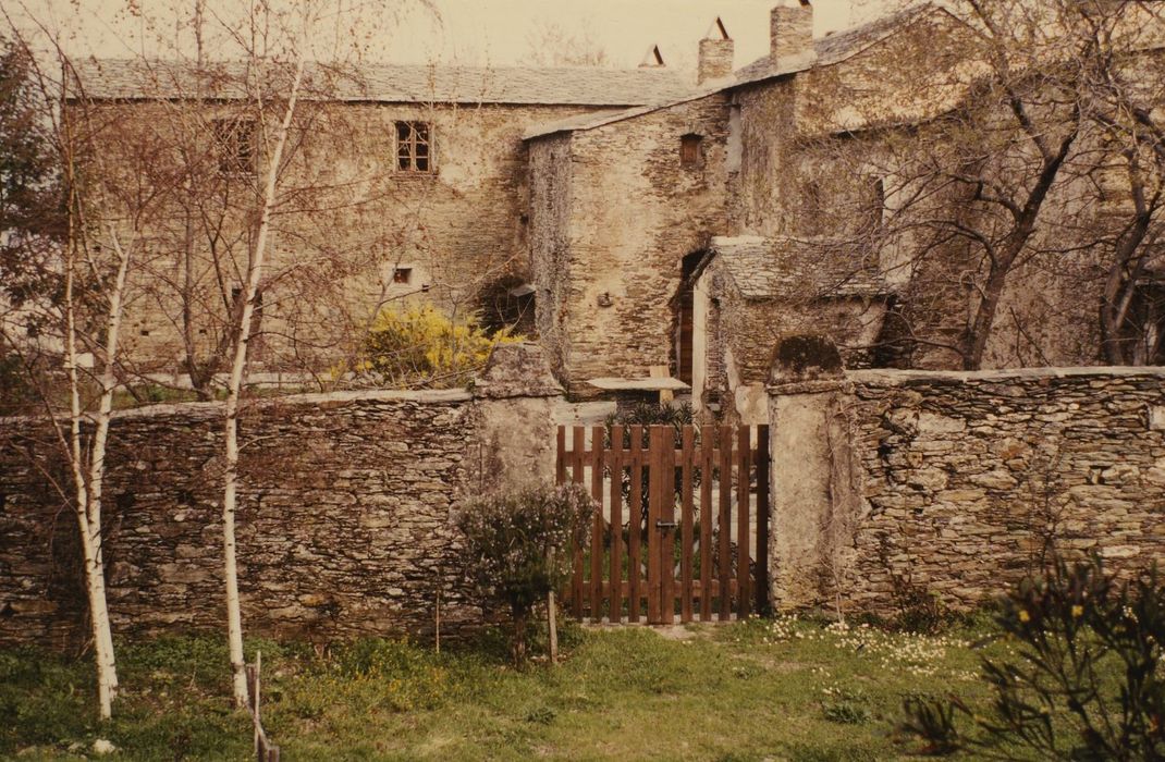
<svg viewBox="0 0 1165 762"><path fill-rule="evenodd" d="M890 165L948 144L952 114L994 118L976 111L982 62L962 44L966 26L938 6L818 40L812 14L807 0L772 8L770 54L740 69L718 20L700 42L694 84L661 66L317 72L288 171L301 178L294 186L346 195L329 204L305 190L315 200L282 218L276 251L283 270L338 288L291 306L270 298L268 330L290 338L284 352L299 358L299 346L332 346L329 331L351 336L386 301L465 309L493 288L534 302L534 330L571 393L594 395L589 380L666 366L693 386L697 408L746 421L765 415L765 353L789 332L831 334L852 366L958 367L982 264L904 218L919 183ZM1159 49L1136 52L1152 63ZM1159 66L1137 66L1156 82ZM220 137L216 150L254 161L250 143L233 136L249 122L232 115L230 94L191 99L174 75L143 78L123 63L82 75L87 101L119 124L200 108L203 132ZM183 105L167 105L175 101ZM1102 147L1100 136L1086 140ZM981 200L966 192L942 189L927 210L958 216ZM1111 210L1073 207L1073 193L1053 189L1062 225L1032 239L1035 249L1062 244L1071 254L1016 263L998 296L1005 319L984 334L983 367L1103 361L1103 262L1094 247L1072 251L1071 237ZM304 267L320 253L343 256ZM163 302L136 318L146 354L174 354L172 330L146 341ZM298 312L281 325L281 310ZM1142 312L1151 323L1142 333L1160 333L1158 312Z"/></svg>

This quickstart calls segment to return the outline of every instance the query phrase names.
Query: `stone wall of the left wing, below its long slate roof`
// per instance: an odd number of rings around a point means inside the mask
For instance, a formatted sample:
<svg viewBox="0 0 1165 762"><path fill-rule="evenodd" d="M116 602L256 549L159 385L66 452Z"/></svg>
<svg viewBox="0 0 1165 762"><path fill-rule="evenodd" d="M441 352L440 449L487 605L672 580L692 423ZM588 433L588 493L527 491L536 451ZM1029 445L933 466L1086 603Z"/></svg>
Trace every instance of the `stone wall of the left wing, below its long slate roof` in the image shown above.
<svg viewBox="0 0 1165 762"><path fill-rule="evenodd" d="M263 334L256 359L269 369L326 367L344 357L352 326L367 324L381 305L428 302L466 312L490 284L529 277L522 133L588 111L595 108L304 104L281 179L283 213L271 231L271 283L256 325ZM190 288L199 305L190 340L198 353L213 357L230 325L225 304L239 284L220 289L214 259L228 270L245 268L256 178L221 177L206 144L209 127L198 125L238 115L231 104L196 111L134 101L103 104L92 117L112 167L140 165L139 156L157 150L160 141L209 156L192 198L163 195L142 220L147 259L156 262L130 282L136 298L127 308L123 355L144 369L181 367L175 326L183 325L186 302L177 287L158 287L154 275L158 268L181 271L185 263L162 262L162 253L177 256L189 247ZM396 169L395 122L404 120L430 126L432 171ZM213 256L205 242L211 233ZM410 271L408 282L394 281L396 268Z"/></svg>

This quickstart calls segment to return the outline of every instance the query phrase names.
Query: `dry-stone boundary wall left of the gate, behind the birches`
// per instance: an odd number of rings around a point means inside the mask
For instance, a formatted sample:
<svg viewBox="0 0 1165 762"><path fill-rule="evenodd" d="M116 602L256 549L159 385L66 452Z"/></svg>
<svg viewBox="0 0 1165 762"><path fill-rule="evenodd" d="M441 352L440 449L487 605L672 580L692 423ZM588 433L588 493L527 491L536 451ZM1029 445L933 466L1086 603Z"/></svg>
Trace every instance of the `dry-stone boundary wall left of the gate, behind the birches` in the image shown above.
<svg viewBox="0 0 1165 762"><path fill-rule="evenodd" d="M558 398L529 375L489 374L474 394L309 394L246 408L236 531L248 634L426 636L438 595L443 634L488 615L459 571L451 509L508 477L552 478ZM114 417L103 529L119 634L223 627L221 416L219 403L184 403ZM523 432L514 447L499 444L507 422ZM44 421L0 418L0 644L87 640L77 522L45 475L68 484L49 435Z"/></svg>

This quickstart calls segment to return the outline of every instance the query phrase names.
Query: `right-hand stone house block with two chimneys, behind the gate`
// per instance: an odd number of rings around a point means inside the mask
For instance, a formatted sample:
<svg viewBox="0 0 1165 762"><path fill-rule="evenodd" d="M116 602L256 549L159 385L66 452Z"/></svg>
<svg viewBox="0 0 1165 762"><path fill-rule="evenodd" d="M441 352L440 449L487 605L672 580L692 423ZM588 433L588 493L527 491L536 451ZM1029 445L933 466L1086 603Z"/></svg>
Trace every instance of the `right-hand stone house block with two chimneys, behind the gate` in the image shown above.
<svg viewBox="0 0 1165 762"><path fill-rule="evenodd" d="M974 227L974 216L981 230L995 223L980 211L982 182L934 190L924 179L956 176L959 162L975 161L956 155L955 129L965 137L1011 117L983 98L983 51L965 20L937 5L818 40L812 13L806 0L778 5L769 56L720 79L705 72L683 98L527 133L539 334L572 390L595 375L643 375L666 362L693 383L697 408L757 422L767 415L765 353L781 334L827 333L856 367L967 361L960 352L987 257L969 253L969 234L931 232L927 216L947 228ZM1163 83L1152 75L1165 41L1160 20L1121 19L1125 31L1136 28L1121 49L1129 62L1121 76L1145 85L1146 103L1160 103ZM701 43L708 69L732 44L712 37ZM1017 83L1030 108L1046 112L1033 118L1051 124L1055 105L1039 78ZM1106 136L1076 129L1067 161L1096 163L1061 172L1047 192L1047 221L998 295L1004 317L983 332L979 367L1106 360L1096 319L1106 262L1099 234L1089 237L1128 224L1130 204L1120 189L1082 188L1076 175L1108 171L1102 182L1111 183L1120 157ZM986 183L1025 189L1014 158L981 169ZM932 195L926 204L923 195ZM1134 332L1159 347L1155 320ZM1150 355L1139 361L1156 361Z"/></svg>

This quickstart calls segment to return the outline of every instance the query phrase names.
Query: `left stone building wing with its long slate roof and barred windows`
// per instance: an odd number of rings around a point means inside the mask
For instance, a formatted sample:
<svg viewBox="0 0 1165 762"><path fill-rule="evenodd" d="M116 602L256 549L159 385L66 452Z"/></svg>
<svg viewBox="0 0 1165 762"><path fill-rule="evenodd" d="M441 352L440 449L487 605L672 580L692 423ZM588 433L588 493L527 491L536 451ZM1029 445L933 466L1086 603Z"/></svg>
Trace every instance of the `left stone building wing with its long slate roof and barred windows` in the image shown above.
<svg viewBox="0 0 1165 762"><path fill-rule="evenodd" d="M141 61L92 61L75 72L69 113L114 178L107 203L122 240L144 252L123 353L143 369L185 371L189 354L212 361L223 351L289 73ZM510 301L503 310L525 308L532 323L520 288L530 237L522 134L686 90L665 68L309 69L252 361L327 367L384 304L464 312L500 292ZM257 107L255 93L274 105ZM183 160L170 163L175 149ZM122 195L119 177L155 192Z"/></svg>

